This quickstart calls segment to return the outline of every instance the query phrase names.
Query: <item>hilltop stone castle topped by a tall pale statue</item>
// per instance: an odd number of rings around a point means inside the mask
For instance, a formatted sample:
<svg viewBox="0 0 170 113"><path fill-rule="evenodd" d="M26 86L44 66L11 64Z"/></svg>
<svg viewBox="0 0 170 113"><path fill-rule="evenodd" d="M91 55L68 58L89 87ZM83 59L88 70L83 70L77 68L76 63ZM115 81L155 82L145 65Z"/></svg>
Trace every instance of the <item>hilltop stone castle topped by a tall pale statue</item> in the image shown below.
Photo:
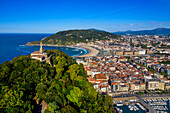
<svg viewBox="0 0 170 113"><path fill-rule="evenodd" d="M40 50L31 53L32 59L40 60L41 62L45 62L47 57L47 53L43 51L42 42L40 43Z"/></svg>

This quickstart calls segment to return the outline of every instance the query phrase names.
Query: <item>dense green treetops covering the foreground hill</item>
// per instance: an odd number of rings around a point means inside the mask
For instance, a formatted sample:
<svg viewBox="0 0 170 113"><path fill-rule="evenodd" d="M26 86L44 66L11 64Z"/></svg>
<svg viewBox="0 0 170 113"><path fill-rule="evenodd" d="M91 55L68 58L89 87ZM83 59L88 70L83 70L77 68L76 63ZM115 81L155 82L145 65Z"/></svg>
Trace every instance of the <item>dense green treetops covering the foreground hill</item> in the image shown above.
<svg viewBox="0 0 170 113"><path fill-rule="evenodd" d="M96 92L82 64L58 50L47 50L51 63L19 56L0 65L0 112L31 113L37 102L46 113L113 112L110 96Z"/></svg>

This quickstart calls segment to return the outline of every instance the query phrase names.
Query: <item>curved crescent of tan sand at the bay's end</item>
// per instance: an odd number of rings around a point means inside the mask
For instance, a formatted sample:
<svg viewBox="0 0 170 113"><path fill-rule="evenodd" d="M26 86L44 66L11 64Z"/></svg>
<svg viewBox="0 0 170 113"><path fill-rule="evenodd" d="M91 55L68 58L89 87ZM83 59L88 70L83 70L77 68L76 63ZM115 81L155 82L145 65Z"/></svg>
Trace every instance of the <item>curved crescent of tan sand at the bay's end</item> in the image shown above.
<svg viewBox="0 0 170 113"><path fill-rule="evenodd" d="M87 53L85 55L81 55L81 56L77 56L77 57L90 57L90 56L97 56L97 54L99 53L98 50L96 50L93 47L90 46L80 46L82 48L88 49L90 51L90 53Z"/></svg>

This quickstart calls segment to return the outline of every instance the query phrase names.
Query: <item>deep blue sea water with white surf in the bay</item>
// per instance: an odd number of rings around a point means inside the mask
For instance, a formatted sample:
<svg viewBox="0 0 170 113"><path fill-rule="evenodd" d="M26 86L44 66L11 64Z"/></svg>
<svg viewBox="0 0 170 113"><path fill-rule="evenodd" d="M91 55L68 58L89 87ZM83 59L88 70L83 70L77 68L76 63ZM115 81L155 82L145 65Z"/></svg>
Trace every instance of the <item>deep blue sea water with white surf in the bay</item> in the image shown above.
<svg viewBox="0 0 170 113"><path fill-rule="evenodd" d="M25 46L27 42L39 41L52 34L0 34L0 64L10 61L19 55L27 55L40 49L39 46ZM49 47L43 46L43 49L57 49L70 56L79 56L89 53L89 50L78 47Z"/></svg>

